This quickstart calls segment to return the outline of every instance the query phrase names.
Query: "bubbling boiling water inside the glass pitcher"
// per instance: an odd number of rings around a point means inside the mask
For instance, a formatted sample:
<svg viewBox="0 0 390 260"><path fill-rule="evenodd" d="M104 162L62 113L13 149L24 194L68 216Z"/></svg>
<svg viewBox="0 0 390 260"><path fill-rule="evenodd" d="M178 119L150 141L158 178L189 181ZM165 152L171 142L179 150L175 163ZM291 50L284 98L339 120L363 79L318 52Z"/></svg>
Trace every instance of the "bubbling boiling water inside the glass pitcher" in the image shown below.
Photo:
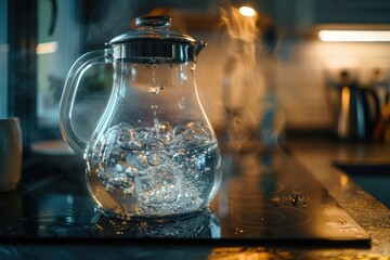
<svg viewBox="0 0 390 260"><path fill-rule="evenodd" d="M89 190L107 214L161 217L207 206L220 184L217 141L202 123L112 127L90 144Z"/></svg>

